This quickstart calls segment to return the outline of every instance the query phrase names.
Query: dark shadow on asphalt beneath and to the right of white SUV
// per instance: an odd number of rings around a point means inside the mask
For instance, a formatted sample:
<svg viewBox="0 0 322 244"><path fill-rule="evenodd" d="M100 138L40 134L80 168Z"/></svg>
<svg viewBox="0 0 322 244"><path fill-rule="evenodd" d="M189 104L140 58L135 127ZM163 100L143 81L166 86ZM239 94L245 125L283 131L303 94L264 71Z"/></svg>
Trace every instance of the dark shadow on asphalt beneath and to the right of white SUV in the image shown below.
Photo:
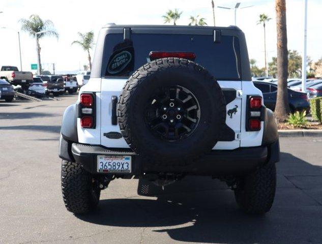
<svg viewBox="0 0 322 244"><path fill-rule="evenodd" d="M151 227L149 235L167 232L173 240L186 242L321 243L321 184L320 166L281 153L275 202L264 216L240 211L222 182L187 177L157 200L106 199L90 215L77 217L99 225Z"/></svg>

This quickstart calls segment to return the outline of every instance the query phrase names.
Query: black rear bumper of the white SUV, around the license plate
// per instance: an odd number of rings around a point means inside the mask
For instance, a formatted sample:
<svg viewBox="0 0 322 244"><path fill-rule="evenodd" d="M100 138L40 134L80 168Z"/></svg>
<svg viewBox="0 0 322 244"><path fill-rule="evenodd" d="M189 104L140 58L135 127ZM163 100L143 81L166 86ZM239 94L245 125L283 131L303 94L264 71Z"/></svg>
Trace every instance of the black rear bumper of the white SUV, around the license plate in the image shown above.
<svg viewBox="0 0 322 244"><path fill-rule="evenodd" d="M279 161L278 140L265 146L241 147L235 150L212 150L210 154L202 157L193 164L185 166L151 165L149 162L142 160L131 149L126 148L106 148L79 143L72 143L70 146L72 158L92 174L108 174L97 172L98 155L131 156L132 173L130 175L142 175L143 173L179 173L212 176L238 175L250 172L257 166ZM61 156L61 158L63 157ZM122 175L125 174L120 174L120 176Z"/></svg>

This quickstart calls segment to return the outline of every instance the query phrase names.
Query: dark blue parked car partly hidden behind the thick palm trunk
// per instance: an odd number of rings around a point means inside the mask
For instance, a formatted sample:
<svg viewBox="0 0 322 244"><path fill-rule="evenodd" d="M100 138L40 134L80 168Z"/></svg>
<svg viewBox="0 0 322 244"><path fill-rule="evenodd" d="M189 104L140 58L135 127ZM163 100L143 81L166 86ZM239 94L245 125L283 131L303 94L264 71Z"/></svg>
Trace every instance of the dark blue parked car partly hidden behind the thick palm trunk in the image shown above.
<svg viewBox="0 0 322 244"><path fill-rule="evenodd" d="M264 104L267 108L275 110L276 98L277 98L277 85L264 82L264 81L253 81L254 85L261 90L264 97ZM310 104L306 93L296 92L287 88L288 91L288 102L291 112L309 110Z"/></svg>

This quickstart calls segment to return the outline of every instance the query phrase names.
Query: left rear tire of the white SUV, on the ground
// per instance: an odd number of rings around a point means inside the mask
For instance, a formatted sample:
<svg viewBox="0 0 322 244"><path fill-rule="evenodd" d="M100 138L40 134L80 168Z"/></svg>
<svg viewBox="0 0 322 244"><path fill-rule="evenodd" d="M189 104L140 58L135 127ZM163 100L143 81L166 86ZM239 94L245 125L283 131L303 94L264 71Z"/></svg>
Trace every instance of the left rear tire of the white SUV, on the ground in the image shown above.
<svg viewBox="0 0 322 244"><path fill-rule="evenodd" d="M62 193L68 211L85 214L96 208L101 191L80 164L63 160Z"/></svg>

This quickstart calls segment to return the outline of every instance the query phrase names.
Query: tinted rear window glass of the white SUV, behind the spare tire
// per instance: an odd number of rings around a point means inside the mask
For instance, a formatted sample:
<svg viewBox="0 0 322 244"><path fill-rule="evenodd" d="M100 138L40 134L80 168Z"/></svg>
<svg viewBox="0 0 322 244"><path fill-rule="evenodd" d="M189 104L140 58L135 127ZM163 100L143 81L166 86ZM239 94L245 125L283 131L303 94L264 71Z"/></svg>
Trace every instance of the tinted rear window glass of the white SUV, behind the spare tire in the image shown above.
<svg viewBox="0 0 322 244"><path fill-rule="evenodd" d="M128 77L150 61L151 51L193 52L194 62L208 69L217 79L240 79L240 50L237 37L212 35L109 34L105 39L102 76Z"/></svg>

